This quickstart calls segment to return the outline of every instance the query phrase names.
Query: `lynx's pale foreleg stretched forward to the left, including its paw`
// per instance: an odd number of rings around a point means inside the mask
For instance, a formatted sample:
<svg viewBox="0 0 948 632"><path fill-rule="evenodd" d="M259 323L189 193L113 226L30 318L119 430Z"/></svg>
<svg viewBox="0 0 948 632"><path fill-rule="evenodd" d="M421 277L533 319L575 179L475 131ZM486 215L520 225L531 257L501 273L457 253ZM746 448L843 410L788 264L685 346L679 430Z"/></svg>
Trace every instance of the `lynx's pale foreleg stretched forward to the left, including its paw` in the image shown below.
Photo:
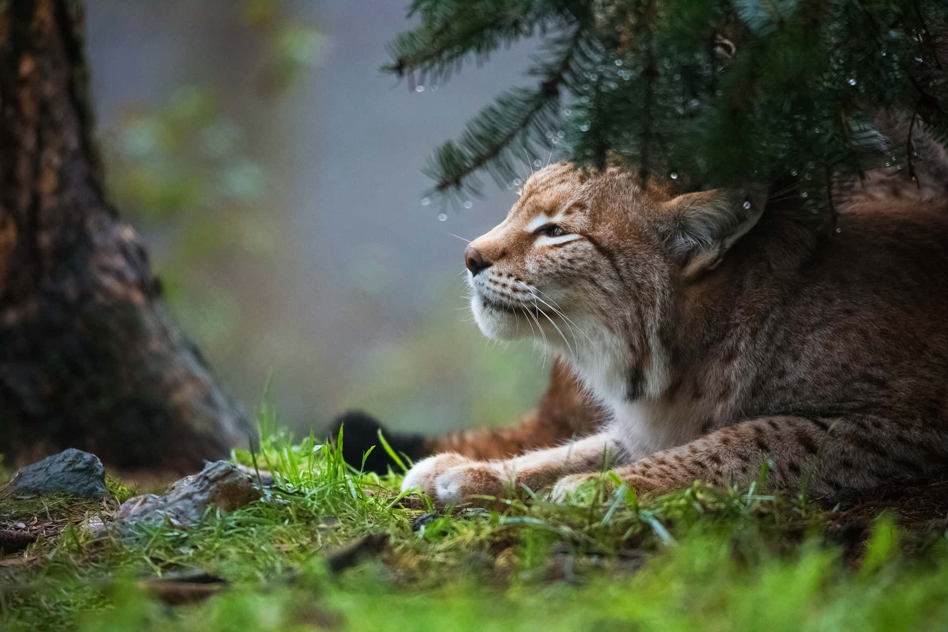
<svg viewBox="0 0 948 632"><path fill-rule="evenodd" d="M618 444L608 434L510 460L476 461L441 454L416 463L405 476L402 489L416 488L442 504L484 504L472 496L501 497L521 486L538 490L569 474L602 471L615 462L618 454Z"/></svg>

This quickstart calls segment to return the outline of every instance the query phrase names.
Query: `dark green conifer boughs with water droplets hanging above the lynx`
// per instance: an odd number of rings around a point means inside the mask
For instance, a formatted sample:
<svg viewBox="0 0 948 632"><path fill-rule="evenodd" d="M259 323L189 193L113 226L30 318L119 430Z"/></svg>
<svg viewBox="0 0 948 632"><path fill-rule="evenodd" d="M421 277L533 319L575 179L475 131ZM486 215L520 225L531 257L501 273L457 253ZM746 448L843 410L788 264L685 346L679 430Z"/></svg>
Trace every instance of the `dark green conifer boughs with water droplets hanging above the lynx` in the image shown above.
<svg viewBox="0 0 948 632"><path fill-rule="evenodd" d="M504 93L428 160L434 193L478 194L480 171L509 186L514 146L545 153L556 131L576 163L622 159L643 177L673 166L686 187L793 181L819 214L833 182L894 159L880 114L916 112L914 126L948 143L943 0L415 0L412 11L421 27L392 44L387 67L410 81L556 34L537 87Z"/></svg>

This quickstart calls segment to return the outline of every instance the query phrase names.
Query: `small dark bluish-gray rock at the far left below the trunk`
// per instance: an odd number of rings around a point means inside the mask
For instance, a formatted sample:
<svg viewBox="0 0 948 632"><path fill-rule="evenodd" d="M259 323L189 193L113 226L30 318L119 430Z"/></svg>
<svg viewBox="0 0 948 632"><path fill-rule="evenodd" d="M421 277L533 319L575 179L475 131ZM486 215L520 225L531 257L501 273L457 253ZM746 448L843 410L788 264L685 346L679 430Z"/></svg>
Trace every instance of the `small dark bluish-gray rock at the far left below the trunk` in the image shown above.
<svg viewBox="0 0 948 632"><path fill-rule="evenodd" d="M20 469L7 493L18 497L105 497L105 468L94 454L69 448Z"/></svg>

